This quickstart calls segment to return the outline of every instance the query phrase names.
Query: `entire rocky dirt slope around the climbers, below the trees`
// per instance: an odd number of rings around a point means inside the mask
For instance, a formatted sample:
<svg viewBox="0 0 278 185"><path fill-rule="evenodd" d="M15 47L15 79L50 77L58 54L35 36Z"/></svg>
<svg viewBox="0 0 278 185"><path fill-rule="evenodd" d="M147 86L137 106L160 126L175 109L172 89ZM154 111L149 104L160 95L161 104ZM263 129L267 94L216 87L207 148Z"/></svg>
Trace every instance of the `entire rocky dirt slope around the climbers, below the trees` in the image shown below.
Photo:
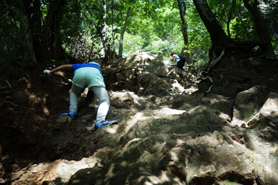
<svg viewBox="0 0 278 185"><path fill-rule="evenodd" d="M278 60L224 55L208 80L159 55L101 64L111 101L95 130L86 91L77 118L72 74L28 64L1 80L0 184L278 184Z"/></svg>

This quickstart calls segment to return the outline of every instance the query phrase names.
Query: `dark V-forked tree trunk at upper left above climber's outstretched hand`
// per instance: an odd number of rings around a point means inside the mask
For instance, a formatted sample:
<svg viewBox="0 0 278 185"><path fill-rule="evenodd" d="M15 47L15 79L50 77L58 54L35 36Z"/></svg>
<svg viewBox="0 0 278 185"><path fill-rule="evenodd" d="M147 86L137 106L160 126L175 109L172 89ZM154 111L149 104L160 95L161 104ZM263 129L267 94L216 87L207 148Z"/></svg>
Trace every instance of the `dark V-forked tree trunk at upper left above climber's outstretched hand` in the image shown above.
<svg viewBox="0 0 278 185"><path fill-rule="evenodd" d="M45 22L42 19L40 0L22 0L23 6L17 3L26 15L33 51L38 62L58 60L63 52L60 24L66 3L66 0L50 1Z"/></svg>

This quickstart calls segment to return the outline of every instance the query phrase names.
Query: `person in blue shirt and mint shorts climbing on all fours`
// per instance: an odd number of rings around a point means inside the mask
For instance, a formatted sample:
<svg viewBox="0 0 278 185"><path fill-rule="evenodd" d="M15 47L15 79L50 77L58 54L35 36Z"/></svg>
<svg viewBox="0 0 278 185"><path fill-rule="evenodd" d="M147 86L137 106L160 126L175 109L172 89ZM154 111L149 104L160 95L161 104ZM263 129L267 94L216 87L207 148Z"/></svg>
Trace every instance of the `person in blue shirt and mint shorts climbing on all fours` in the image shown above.
<svg viewBox="0 0 278 185"><path fill-rule="evenodd" d="M59 116L70 116L71 118L76 118L79 94L83 87L88 87L88 89L93 91L95 96L97 96L99 99L99 109L97 110L95 127L99 129L103 126L116 124L117 121L105 121L110 102L105 89L104 78L102 77L99 64L97 64L97 62L90 62L87 64L65 64L61 65L60 67L56 67L51 71L44 70L44 73L51 75L56 71L67 69L74 72L74 78L72 79L72 90L70 91L70 110L69 112L60 114Z"/></svg>

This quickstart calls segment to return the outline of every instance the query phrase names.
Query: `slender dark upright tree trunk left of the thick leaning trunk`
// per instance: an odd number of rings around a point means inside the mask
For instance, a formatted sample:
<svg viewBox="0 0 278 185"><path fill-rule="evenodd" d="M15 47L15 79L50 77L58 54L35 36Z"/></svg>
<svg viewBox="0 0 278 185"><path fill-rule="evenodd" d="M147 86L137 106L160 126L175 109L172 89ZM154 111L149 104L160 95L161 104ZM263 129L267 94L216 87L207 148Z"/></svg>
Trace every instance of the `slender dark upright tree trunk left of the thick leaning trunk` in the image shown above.
<svg viewBox="0 0 278 185"><path fill-rule="evenodd" d="M186 5L182 3L181 1L183 0L177 0L178 1L178 6L179 6L179 15L181 16L181 33L183 35L183 49L181 51L186 50L186 45L188 45L188 34L187 34L187 24L186 24L186 19L184 16L186 15ZM186 52L186 58L187 61L190 61L189 58L189 53Z"/></svg>

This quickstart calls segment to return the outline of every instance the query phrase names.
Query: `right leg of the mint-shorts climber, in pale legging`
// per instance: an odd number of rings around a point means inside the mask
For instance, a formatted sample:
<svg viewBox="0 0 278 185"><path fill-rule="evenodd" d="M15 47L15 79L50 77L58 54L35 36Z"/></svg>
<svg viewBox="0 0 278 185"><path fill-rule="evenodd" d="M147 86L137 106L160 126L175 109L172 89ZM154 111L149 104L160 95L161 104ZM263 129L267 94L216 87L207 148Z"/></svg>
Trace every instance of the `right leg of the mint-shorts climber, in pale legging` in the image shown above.
<svg viewBox="0 0 278 185"><path fill-rule="evenodd" d="M106 118L106 115L108 113L108 109L110 106L107 91L106 91L105 87L99 87L99 86L92 86L89 89L94 91L95 96L97 96L97 98L99 98L99 109L97 110L96 123L105 121L105 118Z"/></svg>

